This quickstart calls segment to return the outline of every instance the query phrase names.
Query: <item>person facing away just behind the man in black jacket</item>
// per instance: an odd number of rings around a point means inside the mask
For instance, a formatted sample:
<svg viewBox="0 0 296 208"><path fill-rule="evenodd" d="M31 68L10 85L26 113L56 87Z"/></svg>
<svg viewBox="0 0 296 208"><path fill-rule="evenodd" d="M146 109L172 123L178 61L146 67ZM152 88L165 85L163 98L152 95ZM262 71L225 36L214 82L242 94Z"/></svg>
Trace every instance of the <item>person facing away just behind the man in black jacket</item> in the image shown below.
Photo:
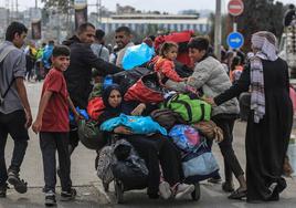
<svg viewBox="0 0 296 208"><path fill-rule="evenodd" d="M101 29L96 30L95 42L92 44L92 50L96 56L104 61L109 61L109 50L104 46L105 32Z"/></svg>

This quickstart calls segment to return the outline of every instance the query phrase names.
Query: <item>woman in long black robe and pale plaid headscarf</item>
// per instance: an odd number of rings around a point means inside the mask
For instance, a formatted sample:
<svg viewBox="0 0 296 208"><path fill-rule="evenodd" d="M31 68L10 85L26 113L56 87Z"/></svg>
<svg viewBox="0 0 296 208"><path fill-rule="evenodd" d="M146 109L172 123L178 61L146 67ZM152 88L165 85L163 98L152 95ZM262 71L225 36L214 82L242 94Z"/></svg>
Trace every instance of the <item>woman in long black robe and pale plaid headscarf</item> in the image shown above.
<svg viewBox="0 0 296 208"><path fill-rule="evenodd" d="M278 200L286 187L282 178L293 123L287 63L276 55L276 38L252 35L254 55L241 79L224 93L208 98L220 105L251 90L251 114L245 135L247 202ZM237 195L241 199L242 195Z"/></svg>

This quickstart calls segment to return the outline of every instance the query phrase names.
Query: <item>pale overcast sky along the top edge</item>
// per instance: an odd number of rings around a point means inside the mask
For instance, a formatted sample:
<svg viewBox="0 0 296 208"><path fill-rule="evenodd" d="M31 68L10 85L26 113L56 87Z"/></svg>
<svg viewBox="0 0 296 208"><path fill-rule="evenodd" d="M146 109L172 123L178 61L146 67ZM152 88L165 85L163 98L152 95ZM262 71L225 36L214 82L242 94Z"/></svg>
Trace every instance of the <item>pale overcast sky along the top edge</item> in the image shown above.
<svg viewBox="0 0 296 208"><path fill-rule="evenodd" d="M30 7L34 7L35 0L0 0L0 7L6 7L6 2L10 2L10 8L13 2L13 7L15 8L15 2L19 2L19 10L24 10ZM89 4L96 3L97 0L88 0ZM295 0L278 0L283 3L295 3ZM41 0L38 0L40 4ZM226 12L226 6L229 0L222 0L222 12ZM180 10L186 9L215 9L215 0L102 0L102 4L108 8L109 10L115 11L116 3L121 6L133 6L137 10L158 10L158 11L167 11L170 13L177 13ZM14 9L15 10L15 9ZM95 11L95 7L89 6L89 10Z"/></svg>

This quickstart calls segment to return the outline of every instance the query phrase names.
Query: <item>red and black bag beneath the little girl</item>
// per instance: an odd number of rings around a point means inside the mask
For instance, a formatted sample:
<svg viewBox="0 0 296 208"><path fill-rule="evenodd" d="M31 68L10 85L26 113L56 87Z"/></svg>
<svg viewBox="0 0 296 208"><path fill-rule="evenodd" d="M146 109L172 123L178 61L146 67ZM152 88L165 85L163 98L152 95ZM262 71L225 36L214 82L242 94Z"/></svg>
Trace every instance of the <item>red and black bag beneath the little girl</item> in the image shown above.
<svg viewBox="0 0 296 208"><path fill-rule="evenodd" d="M154 87L150 87L149 83L152 83ZM159 84L157 73L144 75L130 86L125 94L125 101L139 101L141 103L162 102L163 92Z"/></svg>

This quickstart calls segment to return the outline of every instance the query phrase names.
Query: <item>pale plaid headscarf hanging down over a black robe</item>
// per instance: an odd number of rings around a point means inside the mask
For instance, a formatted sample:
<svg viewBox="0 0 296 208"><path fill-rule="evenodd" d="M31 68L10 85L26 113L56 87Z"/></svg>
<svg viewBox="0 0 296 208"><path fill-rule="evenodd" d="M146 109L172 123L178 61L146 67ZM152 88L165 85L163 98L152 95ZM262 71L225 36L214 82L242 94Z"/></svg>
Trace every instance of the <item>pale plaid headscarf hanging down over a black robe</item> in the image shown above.
<svg viewBox="0 0 296 208"><path fill-rule="evenodd" d="M258 123L265 115L264 74L262 60L275 61L276 38L267 31L260 31L252 35L252 48L255 49L251 62L251 110L254 110L254 122Z"/></svg>

